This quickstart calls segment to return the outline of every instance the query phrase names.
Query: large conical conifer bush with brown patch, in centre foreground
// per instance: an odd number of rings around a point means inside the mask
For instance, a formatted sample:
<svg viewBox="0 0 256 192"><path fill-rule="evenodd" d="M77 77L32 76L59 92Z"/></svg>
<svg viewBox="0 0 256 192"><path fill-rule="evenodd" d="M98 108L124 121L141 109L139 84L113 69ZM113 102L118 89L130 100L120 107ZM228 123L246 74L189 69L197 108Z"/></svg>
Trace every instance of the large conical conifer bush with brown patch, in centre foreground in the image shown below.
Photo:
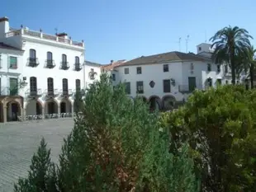
<svg viewBox="0 0 256 192"><path fill-rule="evenodd" d="M149 113L140 98L131 101L122 84L113 88L102 74L83 106L64 139L55 171L58 191L198 191L187 144L169 152L168 132L159 131L158 114Z"/></svg>

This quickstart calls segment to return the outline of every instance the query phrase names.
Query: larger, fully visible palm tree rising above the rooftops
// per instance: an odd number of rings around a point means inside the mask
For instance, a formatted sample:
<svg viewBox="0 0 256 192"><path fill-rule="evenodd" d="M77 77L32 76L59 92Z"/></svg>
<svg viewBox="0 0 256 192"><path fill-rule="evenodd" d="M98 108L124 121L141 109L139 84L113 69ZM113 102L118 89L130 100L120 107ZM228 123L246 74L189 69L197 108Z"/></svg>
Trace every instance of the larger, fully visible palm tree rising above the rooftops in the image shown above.
<svg viewBox="0 0 256 192"><path fill-rule="evenodd" d="M235 68L239 65L235 58L249 58L250 41L253 39L247 30L238 26L225 28L216 32L211 37L211 48L215 48L212 59L215 63L228 63L231 68L232 84L235 85Z"/></svg>

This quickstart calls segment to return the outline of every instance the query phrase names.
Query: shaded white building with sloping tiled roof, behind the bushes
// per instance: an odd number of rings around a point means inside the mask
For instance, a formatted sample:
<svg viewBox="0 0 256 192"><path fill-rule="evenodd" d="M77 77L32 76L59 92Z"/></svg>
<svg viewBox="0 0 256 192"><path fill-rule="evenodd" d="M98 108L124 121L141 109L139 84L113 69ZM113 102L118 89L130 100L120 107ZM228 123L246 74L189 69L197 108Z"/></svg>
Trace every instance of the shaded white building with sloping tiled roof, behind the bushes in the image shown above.
<svg viewBox="0 0 256 192"><path fill-rule="evenodd" d="M196 88L231 82L228 66L213 63L211 53L211 44L199 44L197 54L173 51L141 56L114 66L113 82L126 82L127 94L143 97L151 108L168 110L186 101Z"/></svg>

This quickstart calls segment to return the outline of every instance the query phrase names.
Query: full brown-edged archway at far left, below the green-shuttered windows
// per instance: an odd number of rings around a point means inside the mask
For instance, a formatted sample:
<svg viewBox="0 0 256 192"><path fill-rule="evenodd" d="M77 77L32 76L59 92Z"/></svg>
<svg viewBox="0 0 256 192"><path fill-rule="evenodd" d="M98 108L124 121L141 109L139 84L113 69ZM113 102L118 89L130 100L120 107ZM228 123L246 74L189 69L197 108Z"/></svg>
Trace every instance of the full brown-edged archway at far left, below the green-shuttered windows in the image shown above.
<svg viewBox="0 0 256 192"><path fill-rule="evenodd" d="M7 102L7 121L17 121L21 116L21 105L17 101Z"/></svg>

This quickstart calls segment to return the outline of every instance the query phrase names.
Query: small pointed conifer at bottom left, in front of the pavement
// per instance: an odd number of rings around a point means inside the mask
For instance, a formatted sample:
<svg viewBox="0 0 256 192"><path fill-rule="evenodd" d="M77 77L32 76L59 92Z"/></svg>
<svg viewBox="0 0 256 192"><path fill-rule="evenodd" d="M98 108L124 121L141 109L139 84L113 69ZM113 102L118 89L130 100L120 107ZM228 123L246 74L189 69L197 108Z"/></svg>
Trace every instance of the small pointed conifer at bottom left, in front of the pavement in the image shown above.
<svg viewBox="0 0 256 192"><path fill-rule="evenodd" d="M57 192L55 165L50 161L45 139L31 160L30 171L26 179L20 178L14 185L15 192Z"/></svg>

